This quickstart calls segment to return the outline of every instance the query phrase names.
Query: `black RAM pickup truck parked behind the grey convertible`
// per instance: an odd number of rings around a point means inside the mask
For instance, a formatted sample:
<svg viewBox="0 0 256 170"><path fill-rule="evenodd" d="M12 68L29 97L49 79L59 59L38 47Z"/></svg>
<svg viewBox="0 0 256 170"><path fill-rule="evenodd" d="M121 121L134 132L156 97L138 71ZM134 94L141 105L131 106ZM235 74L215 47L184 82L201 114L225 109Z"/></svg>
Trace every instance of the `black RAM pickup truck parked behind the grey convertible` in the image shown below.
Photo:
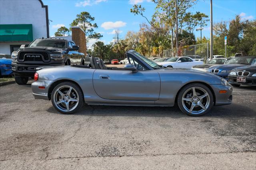
<svg viewBox="0 0 256 170"><path fill-rule="evenodd" d="M36 67L57 65L84 65L84 53L78 52L78 45L66 39L40 38L28 47L21 45L12 52L12 71L17 84L26 84L34 77Z"/></svg>

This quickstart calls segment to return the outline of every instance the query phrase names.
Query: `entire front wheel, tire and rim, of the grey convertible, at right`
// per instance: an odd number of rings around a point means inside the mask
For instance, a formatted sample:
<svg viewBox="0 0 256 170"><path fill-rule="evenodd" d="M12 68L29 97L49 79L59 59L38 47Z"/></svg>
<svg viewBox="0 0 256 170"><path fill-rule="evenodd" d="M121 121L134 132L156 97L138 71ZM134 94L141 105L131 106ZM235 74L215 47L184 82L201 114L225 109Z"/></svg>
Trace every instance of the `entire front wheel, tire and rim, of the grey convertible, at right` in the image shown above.
<svg viewBox="0 0 256 170"><path fill-rule="evenodd" d="M200 83L183 87L178 94L177 102L180 110L190 116L204 115L214 105L212 92L206 85Z"/></svg>

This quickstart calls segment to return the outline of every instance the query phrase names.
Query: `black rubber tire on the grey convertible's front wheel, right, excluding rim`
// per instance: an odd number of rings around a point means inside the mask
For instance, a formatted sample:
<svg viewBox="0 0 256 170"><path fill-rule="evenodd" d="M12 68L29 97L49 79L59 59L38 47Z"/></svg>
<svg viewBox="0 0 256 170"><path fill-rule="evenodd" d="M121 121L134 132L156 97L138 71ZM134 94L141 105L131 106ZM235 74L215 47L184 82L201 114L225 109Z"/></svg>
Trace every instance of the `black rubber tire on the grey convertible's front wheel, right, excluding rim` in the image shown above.
<svg viewBox="0 0 256 170"><path fill-rule="evenodd" d="M209 95L209 105L208 105L208 108L206 109L206 110L204 110L202 113L198 113L198 114L193 114L193 113L189 113L185 108L184 108L184 106L182 105L182 96L184 95L184 93L188 90L188 89L190 89L190 88L192 88L192 87L199 87L199 88L202 88L202 89L204 89L205 91L207 91L207 93L208 93L208 95ZM193 98L193 96L192 96L192 98ZM198 99L199 100L199 99ZM212 107L213 107L213 105L214 105L214 98L213 98L213 95L212 95L212 92L210 91L210 89L206 86L206 85L203 85L203 84L201 84L201 83L191 83L191 84L188 84L188 85L185 85L181 90L180 90L180 92L179 92L179 94L178 94L178 99L177 99L177 103L178 103L178 107L180 108L180 110L183 112L183 113L185 113L186 115L189 115L189 116L202 116L202 115L204 115L204 114L206 114L206 113L208 113L211 109L212 109ZM192 104L192 102L191 102L191 104ZM196 105L196 107L199 107L198 105ZM201 107L200 107L201 108ZM202 108L201 108L202 109Z"/></svg>

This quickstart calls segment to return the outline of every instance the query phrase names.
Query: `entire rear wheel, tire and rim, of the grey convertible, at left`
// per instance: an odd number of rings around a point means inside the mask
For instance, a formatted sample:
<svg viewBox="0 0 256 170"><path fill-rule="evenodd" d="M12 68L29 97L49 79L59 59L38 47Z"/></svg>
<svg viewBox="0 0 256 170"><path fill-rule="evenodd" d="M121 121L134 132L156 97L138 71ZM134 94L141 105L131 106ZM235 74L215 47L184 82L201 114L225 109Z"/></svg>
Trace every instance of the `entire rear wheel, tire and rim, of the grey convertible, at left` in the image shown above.
<svg viewBox="0 0 256 170"><path fill-rule="evenodd" d="M78 85L63 82L53 89L51 95L52 105L61 113L72 114L78 111L83 103L83 93Z"/></svg>

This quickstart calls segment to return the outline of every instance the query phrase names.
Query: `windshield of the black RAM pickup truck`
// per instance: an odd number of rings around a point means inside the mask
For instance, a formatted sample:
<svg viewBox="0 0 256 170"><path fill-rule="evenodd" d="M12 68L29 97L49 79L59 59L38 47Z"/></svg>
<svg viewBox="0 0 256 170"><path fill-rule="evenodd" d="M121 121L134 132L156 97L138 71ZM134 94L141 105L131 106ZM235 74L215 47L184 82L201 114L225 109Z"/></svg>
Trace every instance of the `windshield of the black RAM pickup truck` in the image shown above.
<svg viewBox="0 0 256 170"><path fill-rule="evenodd" d="M35 40L29 47L66 48L66 40Z"/></svg>

